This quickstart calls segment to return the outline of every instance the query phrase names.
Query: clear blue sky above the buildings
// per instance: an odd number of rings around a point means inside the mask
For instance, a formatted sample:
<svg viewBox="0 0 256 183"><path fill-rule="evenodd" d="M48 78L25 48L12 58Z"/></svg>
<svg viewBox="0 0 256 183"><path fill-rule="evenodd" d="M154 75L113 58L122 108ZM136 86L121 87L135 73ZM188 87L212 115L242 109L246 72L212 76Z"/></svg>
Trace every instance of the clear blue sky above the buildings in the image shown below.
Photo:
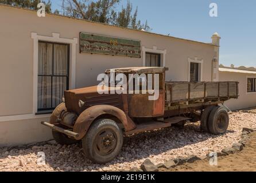
<svg viewBox="0 0 256 183"><path fill-rule="evenodd" d="M126 4L127 0L122 0ZM148 20L153 32L174 37L211 42L218 32L220 63L256 66L255 0L130 0L138 6L138 18ZM61 0L52 0L58 9ZM210 17L209 5L217 3L218 17ZM117 9L121 7L117 6Z"/></svg>

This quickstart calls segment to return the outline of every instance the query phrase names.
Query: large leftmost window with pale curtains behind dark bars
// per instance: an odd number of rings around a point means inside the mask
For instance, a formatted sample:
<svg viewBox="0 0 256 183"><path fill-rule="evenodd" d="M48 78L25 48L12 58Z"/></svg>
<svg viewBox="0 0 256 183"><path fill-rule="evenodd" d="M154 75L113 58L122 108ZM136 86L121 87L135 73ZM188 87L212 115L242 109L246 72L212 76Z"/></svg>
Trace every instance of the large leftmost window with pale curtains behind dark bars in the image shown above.
<svg viewBox="0 0 256 183"><path fill-rule="evenodd" d="M37 110L53 110L69 83L69 45L38 42Z"/></svg>

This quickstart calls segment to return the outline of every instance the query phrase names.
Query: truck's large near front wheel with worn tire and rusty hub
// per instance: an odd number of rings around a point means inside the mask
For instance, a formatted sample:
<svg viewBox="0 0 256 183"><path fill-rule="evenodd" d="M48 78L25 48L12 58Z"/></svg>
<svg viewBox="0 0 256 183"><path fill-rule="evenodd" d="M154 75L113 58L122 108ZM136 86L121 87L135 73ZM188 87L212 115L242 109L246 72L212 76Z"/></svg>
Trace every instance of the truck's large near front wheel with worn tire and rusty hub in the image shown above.
<svg viewBox="0 0 256 183"><path fill-rule="evenodd" d="M122 130L113 120L96 120L82 139L83 152L97 164L106 164L118 156L123 145Z"/></svg>

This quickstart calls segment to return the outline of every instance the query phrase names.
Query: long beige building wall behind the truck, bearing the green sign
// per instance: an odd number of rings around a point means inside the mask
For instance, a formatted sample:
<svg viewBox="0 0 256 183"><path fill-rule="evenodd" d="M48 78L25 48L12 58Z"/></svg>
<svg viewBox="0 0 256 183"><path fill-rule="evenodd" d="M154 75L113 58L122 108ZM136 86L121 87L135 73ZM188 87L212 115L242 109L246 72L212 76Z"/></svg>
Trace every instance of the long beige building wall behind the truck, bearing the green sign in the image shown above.
<svg viewBox="0 0 256 183"><path fill-rule="evenodd" d="M0 146L6 144L17 144L38 141L51 138L51 130L40 133L38 138L36 132L31 136L26 134L24 138L18 139L23 134L24 128L30 124L37 125L38 118L33 114L33 39L32 33L52 37L52 33L59 33L61 38L79 39L79 33L94 33L127 39L138 39L141 46L158 50L166 50L166 73L167 81L188 81L188 59L203 59L202 81L211 81L212 59L218 56L216 46L187 41L179 38L164 37L122 29L120 27L106 26L99 23L76 20L46 14L46 17L37 17L36 11L16 9L13 7L0 6L0 125L5 130L3 136L0 133ZM76 75L75 87L86 87L96 85L96 77L104 70L117 67L143 66L143 58L130 58L122 56L79 53L79 43L76 45ZM30 115L31 114L31 115ZM10 120L17 115L22 116L23 121ZM26 115L30 115L26 117ZM7 118L9 120L5 121ZM26 120L30 119L30 120ZM35 118L33 120L33 118ZM2 120L1 120L2 119ZM17 117L17 120L21 120ZM2 122L1 122L2 121ZM27 122L27 124L26 124ZM14 125L15 124L15 125ZM17 125L18 124L18 125ZM24 128L21 128L25 125ZM4 128L3 128L4 126ZM7 128L9 126L10 128ZM36 128L30 130L37 131ZM14 133L15 132L15 133ZM28 132L28 131L27 131ZM27 137L27 138L25 138Z"/></svg>

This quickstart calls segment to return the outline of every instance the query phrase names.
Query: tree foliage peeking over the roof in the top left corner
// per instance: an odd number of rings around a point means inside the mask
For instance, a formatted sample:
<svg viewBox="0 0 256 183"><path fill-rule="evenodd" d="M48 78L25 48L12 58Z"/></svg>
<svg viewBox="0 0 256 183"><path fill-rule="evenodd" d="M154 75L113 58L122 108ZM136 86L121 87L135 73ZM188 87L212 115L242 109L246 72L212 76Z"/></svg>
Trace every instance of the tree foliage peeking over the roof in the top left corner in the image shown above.
<svg viewBox="0 0 256 183"><path fill-rule="evenodd" d="M50 0L46 3L45 1L40 1L40 0L0 0L0 3L10 5L10 6L18 6L18 7L23 7L26 9L32 9L32 10L37 10L37 5L38 3L44 3L45 4L45 11L47 13L51 13L52 9L52 3Z"/></svg>

